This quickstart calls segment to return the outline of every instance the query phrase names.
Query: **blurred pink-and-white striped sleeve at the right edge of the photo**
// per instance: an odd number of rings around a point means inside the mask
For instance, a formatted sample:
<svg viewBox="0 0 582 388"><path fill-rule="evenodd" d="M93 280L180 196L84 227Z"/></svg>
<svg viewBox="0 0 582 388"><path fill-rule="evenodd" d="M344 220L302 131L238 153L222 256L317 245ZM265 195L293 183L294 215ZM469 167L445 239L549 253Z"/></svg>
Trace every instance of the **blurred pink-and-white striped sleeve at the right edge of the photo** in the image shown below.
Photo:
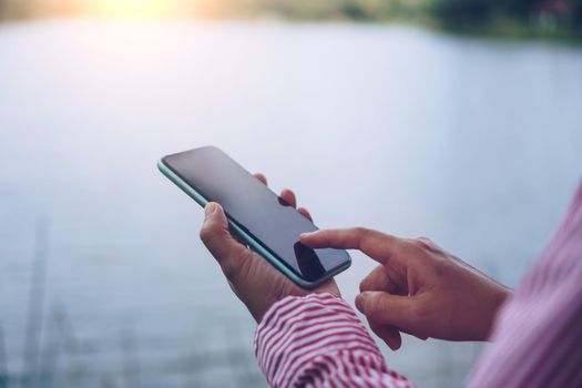
<svg viewBox="0 0 582 388"><path fill-rule="evenodd" d="M582 185L491 341L470 387L582 387Z"/></svg>

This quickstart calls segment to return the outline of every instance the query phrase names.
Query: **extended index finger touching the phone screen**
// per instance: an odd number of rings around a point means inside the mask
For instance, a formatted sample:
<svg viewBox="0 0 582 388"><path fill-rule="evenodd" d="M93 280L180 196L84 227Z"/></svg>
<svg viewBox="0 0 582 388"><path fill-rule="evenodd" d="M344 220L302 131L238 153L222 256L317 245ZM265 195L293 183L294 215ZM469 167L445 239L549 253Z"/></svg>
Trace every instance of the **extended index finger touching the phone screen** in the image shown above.
<svg viewBox="0 0 582 388"><path fill-rule="evenodd" d="M312 248L359 249L381 264L405 244L401 238L364 227L304 233L300 241Z"/></svg>

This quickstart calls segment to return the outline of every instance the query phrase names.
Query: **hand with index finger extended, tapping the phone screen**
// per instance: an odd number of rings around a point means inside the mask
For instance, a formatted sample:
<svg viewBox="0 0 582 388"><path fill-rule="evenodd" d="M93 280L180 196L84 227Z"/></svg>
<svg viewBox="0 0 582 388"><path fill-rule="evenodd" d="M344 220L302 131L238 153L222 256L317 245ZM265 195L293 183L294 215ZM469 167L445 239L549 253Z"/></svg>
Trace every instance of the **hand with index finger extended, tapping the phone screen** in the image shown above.
<svg viewBox="0 0 582 388"><path fill-rule="evenodd" d="M496 314L511 290L428 238L398 238L366 228L302 235L313 248L359 249L378 262L360 283L356 307L390 348L399 331L419 338L487 339Z"/></svg>

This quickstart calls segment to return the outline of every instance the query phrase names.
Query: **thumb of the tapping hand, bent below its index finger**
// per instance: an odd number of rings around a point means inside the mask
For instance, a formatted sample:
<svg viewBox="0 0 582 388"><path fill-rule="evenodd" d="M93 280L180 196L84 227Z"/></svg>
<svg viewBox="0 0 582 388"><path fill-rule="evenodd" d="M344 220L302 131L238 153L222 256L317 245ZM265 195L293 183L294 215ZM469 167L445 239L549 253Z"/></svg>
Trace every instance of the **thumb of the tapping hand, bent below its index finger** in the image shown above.
<svg viewBox="0 0 582 388"><path fill-rule="evenodd" d="M356 307L370 323L390 325L405 331L415 331L418 315L413 297L385 292L365 292L356 296Z"/></svg>

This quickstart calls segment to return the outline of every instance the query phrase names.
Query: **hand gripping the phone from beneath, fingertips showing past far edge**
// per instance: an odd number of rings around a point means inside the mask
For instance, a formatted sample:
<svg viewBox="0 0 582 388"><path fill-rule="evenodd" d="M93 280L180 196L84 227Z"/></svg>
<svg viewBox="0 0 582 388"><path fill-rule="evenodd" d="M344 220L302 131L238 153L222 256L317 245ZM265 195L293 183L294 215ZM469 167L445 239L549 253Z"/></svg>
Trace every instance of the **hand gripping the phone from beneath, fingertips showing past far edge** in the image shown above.
<svg viewBox="0 0 582 388"><path fill-rule="evenodd" d="M255 176L267 184L262 174ZM284 190L280 197L296 207L297 201L290 190ZM300 288L270 265L266 258L235 239L228 229L226 215L218 204L208 203L204 212L205 219L200 236L221 265L233 292L246 305L257 321L261 320L270 305L289 295L304 296L310 293L330 293L340 296L333 279L313 290ZM298 212L312 219L305 208L299 207Z"/></svg>

